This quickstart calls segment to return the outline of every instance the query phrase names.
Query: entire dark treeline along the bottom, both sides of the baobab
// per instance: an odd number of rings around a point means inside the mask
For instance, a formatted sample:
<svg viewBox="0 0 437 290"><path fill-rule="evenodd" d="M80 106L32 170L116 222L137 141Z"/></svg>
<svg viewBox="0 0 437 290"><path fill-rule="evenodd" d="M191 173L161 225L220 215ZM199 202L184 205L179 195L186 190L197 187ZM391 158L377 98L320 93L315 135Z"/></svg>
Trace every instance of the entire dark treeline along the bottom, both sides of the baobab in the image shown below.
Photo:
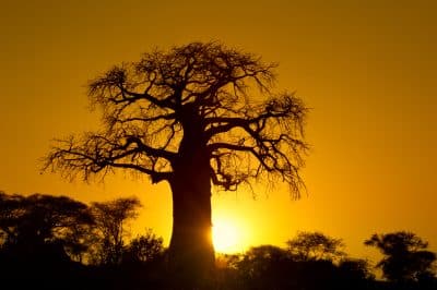
<svg viewBox="0 0 437 290"><path fill-rule="evenodd" d="M162 238L150 229L129 237L140 206L135 197L86 205L0 192L0 288L188 289L167 268ZM365 244L383 255L375 266L347 257L341 239L321 232L299 232L284 249L221 254L204 289L437 289L436 254L414 233L375 233ZM375 279L375 267L385 280Z"/></svg>

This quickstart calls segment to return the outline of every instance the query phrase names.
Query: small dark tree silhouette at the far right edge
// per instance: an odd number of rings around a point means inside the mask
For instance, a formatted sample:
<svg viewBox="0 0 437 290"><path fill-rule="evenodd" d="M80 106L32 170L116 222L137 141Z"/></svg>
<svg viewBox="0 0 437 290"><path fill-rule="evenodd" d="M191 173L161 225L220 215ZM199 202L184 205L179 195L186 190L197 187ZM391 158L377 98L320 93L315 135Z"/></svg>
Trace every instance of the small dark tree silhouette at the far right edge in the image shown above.
<svg viewBox="0 0 437 290"><path fill-rule="evenodd" d="M432 266L436 254L426 251L428 243L415 233L375 233L365 244L379 249L385 255L377 267L380 267L383 277L391 281L418 281L422 278L434 277Z"/></svg>

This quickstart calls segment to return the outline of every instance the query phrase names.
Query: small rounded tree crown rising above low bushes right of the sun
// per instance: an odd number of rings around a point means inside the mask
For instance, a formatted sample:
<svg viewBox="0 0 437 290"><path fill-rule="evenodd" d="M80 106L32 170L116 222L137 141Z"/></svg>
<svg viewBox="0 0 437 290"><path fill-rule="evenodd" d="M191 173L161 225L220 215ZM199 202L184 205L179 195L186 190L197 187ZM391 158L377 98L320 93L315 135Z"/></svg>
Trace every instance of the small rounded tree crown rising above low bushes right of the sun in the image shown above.
<svg viewBox="0 0 437 290"><path fill-rule="evenodd" d="M330 238L321 232L298 232L288 240L288 251L297 261L340 259L345 255L341 239Z"/></svg>

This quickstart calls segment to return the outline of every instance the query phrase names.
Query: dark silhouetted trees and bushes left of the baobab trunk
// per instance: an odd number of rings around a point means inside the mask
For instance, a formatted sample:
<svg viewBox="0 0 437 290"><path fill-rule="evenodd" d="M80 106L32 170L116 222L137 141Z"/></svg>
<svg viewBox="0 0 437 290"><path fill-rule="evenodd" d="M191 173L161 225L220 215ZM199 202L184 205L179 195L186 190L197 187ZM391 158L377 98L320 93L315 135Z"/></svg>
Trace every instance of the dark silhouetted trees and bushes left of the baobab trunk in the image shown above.
<svg viewBox="0 0 437 290"><path fill-rule="evenodd" d="M67 196L0 192L0 280L16 282L11 289L29 281L87 289L78 285L85 280L90 289L111 288L116 269L162 259L163 239L151 230L126 243L140 206L135 197L86 205Z"/></svg>

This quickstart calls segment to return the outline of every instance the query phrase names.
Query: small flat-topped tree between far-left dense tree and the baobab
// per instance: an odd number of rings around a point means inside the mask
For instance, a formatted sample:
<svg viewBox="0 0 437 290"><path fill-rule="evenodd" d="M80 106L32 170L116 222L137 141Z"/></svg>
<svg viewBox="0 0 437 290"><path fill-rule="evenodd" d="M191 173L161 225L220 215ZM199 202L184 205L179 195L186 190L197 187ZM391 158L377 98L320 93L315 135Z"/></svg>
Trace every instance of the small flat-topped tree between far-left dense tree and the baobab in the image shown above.
<svg viewBox="0 0 437 290"><path fill-rule="evenodd" d="M92 213L101 237L97 251L99 263L116 265L121 262L123 239L128 234L127 222L138 216L139 207L141 203L137 197L92 204Z"/></svg>

